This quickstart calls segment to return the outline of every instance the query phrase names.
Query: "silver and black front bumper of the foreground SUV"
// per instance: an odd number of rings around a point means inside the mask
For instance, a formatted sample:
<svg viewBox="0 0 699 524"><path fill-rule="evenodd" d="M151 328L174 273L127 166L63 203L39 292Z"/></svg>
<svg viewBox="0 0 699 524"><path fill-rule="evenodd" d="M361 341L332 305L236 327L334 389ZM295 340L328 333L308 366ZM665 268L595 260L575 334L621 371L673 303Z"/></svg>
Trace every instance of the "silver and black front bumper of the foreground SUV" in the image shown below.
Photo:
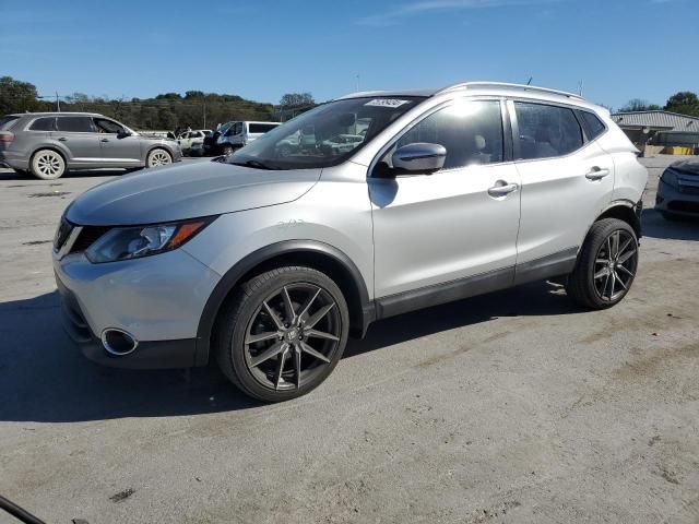
<svg viewBox="0 0 699 524"><path fill-rule="evenodd" d="M218 275L183 250L106 264L76 252L55 257L54 271L63 326L88 359L143 369L197 365L197 329ZM107 353L99 340L106 329L132 334L137 349Z"/></svg>

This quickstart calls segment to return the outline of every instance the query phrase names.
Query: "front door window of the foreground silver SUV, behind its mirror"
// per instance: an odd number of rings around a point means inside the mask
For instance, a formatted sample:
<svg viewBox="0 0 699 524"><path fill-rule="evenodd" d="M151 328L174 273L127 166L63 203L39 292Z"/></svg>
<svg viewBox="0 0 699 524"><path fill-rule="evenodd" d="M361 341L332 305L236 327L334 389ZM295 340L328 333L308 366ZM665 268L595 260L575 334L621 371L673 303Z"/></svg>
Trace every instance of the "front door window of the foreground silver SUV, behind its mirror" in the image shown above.
<svg viewBox="0 0 699 524"><path fill-rule="evenodd" d="M459 102L431 114L398 141L447 148L445 169L502 162L502 117L498 102Z"/></svg>

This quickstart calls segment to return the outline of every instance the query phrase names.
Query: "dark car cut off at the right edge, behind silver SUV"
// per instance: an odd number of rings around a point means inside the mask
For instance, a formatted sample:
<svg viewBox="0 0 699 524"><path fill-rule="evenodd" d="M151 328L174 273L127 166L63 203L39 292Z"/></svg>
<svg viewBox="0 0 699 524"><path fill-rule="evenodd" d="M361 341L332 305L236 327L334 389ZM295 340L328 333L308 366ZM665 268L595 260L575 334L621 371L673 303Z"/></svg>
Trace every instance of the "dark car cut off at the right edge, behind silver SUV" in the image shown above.
<svg viewBox="0 0 699 524"><path fill-rule="evenodd" d="M699 160L676 162L660 177L655 209L668 221L699 218Z"/></svg>

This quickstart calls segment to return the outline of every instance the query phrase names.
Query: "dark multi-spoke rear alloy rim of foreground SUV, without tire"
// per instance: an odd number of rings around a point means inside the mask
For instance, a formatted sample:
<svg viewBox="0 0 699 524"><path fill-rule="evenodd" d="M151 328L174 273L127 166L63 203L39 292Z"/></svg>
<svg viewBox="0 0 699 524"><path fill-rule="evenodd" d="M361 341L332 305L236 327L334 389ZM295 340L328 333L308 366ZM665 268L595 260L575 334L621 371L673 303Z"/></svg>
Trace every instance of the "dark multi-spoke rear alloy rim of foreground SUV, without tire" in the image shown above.
<svg viewBox="0 0 699 524"><path fill-rule="evenodd" d="M594 260L594 287L600 298L613 302L624 295L636 276L637 265L636 238L623 229L613 231Z"/></svg>

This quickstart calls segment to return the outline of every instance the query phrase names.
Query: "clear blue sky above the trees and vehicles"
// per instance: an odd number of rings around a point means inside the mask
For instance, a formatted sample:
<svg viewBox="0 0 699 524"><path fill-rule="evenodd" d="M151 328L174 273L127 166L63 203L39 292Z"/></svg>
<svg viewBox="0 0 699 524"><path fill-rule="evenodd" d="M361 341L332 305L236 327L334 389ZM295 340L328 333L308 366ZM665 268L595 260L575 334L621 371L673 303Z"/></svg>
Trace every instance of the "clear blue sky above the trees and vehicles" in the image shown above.
<svg viewBox="0 0 699 524"><path fill-rule="evenodd" d="M40 94L276 103L464 80L618 108L699 91L697 0L0 0L0 75Z"/></svg>

